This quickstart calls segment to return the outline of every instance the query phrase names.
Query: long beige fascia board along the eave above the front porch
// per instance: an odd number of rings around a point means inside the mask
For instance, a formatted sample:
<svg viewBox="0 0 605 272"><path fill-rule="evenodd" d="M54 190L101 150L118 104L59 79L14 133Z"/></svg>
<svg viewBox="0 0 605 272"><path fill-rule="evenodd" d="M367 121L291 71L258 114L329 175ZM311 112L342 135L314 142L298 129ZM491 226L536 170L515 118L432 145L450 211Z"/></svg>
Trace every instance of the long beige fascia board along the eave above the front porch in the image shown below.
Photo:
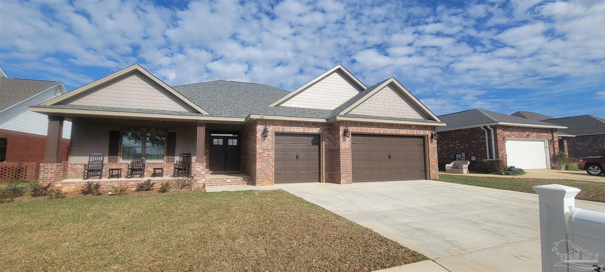
<svg viewBox="0 0 605 272"><path fill-rule="evenodd" d="M193 116L193 115L172 115L172 114L148 114L140 112L122 112L122 111L96 111L90 109L57 109L57 108L36 108L31 107L30 111L62 114L62 115L83 115L100 117L139 117L139 118L159 118L159 119L178 119L178 120L209 120L209 121L246 121L246 118L237 117L215 117L215 116Z"/></svg>

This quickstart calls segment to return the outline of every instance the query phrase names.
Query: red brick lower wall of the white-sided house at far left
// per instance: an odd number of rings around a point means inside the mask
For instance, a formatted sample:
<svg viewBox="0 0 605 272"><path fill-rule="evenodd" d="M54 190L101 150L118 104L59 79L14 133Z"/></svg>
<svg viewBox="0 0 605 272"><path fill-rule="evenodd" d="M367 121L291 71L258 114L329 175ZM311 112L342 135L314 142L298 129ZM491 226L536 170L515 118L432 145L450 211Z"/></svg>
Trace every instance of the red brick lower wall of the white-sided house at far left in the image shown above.
<svg viewBox="0 0 605 272"><path fill-rule="evenodd" d="M46 151L46 136L0 129L0 138L7 138L6 161L41 163ZM67 160L69 139L61 143L61 158Z"/></svg>

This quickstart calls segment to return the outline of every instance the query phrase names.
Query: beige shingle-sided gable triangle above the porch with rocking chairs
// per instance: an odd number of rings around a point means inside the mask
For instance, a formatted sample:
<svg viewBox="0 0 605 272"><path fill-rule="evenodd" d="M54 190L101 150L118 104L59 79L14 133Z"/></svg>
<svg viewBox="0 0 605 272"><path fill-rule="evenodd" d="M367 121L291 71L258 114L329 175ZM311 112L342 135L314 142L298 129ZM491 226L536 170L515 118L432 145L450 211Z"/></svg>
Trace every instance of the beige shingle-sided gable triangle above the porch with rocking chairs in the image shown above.
<svg viewBox="0 0 605 272"><path fill-rule="evenodd" d="M197 112L140 72L125 74L60 104Z"/></svg>

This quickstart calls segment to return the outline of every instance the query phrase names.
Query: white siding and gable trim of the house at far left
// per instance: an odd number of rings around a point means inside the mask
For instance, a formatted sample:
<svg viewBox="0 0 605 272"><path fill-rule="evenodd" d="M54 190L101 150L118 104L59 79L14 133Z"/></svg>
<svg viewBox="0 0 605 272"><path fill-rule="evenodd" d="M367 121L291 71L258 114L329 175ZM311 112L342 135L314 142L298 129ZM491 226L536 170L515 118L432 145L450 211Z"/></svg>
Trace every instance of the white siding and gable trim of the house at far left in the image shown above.
<svg viewBox="0 0 605 272"><path fill-rule="evenodd" d="M39 105L60 94L60 87L48 89L37 96L31 97L6 111L0 112L0 129L19 131L38 135L47 135L48 116L29 111L30 106ZM71 122L63 123L63 138L69 139Z"/></svg>

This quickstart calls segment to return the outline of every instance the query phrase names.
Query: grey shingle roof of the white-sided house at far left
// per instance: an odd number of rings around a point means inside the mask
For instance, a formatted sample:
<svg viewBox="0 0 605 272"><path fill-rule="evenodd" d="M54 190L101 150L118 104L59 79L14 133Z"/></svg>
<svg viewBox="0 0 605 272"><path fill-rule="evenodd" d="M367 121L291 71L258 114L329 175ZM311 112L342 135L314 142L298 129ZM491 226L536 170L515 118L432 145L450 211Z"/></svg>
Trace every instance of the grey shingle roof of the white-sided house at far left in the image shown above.
<svg viewBox="0 0 605 272"><path fill-rule="evenodd" d="M0 111L59 83L56 81L2 77L0 78L0 97L2 97L0 99Z"/></svg>

